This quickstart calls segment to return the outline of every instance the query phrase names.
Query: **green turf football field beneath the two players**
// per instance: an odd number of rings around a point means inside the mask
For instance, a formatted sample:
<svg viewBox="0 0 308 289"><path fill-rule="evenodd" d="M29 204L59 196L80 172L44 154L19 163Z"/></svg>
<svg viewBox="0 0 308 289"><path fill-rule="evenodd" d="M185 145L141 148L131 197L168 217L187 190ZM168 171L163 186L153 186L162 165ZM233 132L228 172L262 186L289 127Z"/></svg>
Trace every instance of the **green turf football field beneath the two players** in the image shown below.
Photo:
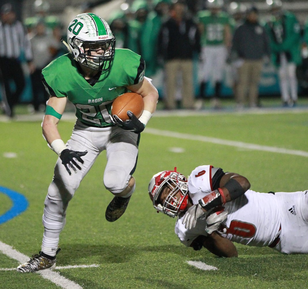
<svg viewBox="0 0 308 289"><path fill-rule="evenodd" d="M56 285L37 273L3 270L19 262L0 250L0 288L308 288L308 256L238 244L238 258L196 252L180 243L175 219L157 214L148 197L153 174L176 166L188 176L202 164L244 175L255 191L307 189L308 110L180 114L158 111L142 133L136 191L119 220L109 223L104 216L112 199L102 183L104 152L81 183L60 235L57 266L64 268L55 270L77 287ZM25 212L0 224L0 242L28 257L40 250L43 203L56 161L40 125L39 120L0 122L0 186L29 203ZM61 120L63 140L69 139L73 125L73 120ZM0 191L0 216L11 206ZM218 270L200 270L188 261ZM66 268L93 264L97 266Z"/></svg>

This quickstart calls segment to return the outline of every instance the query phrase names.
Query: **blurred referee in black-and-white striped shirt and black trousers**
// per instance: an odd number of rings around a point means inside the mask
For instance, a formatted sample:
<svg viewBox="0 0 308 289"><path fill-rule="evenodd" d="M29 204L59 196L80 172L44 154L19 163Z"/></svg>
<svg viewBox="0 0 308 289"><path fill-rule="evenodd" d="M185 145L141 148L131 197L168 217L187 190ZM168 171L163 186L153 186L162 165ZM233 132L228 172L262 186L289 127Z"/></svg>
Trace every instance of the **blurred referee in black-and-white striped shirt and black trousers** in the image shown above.
<svg viewBox="0 0 308 289"><path fill-rule="evenodd" d="M7 116L14 116L14 106L26 85L25 77L20 63L22 53L29 65L30 73L34 70L32 63L32 50L30 40L25 28L19 20L10 3L1 6L0 21L0 81L2 89L1 98ZM12 87L12 82L14 86Z"/></svg>

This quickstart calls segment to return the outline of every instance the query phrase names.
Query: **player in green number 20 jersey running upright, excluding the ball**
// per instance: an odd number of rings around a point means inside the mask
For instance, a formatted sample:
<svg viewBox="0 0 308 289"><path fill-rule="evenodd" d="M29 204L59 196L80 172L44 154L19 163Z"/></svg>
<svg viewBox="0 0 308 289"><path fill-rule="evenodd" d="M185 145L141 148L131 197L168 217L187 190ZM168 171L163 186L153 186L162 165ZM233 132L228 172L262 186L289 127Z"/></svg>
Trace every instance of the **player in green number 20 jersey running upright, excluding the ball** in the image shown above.
<svg viewBox="0 0 308 289"><path fill-rule="evenodd" d="M132 174L140 132L158 100L156 88L144 77L143 59L131 50L115 48L109 25L98 15L77 15L68 26L65 44L70 53L55 59L42 71L50 94L43 135L59 156L45 199L42 250L18 266L19 272L55 266L68 203L103 150L107 157L103 183L115 195L107 206L106 219L112 222L122 216L135 189ZM129 120L122 121L110 115L111 104L128 90L143 97L144 111L139 119L128 111ZM64 144L57 125L67 99L76 107L77 120L71 139Z"/></svg>

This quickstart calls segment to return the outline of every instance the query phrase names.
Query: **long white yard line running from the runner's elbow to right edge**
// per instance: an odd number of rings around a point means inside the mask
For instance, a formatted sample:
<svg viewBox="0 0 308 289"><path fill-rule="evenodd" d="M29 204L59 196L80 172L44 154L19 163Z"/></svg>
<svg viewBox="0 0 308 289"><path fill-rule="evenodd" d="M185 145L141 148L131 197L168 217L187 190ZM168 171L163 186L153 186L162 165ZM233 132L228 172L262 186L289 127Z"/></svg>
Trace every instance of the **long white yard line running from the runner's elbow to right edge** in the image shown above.
<svg viewBox="0 0 308 289"><path fill-rule="evenodd" d="M209 143L217 144L217 145L233 146L233 147L241 148L241 149L251 149L251 150L259 150L259 151L265 151L265 152L271 152L271 153L282 153L282 154L297 155L301 157L308 157L308 152L300 151L300 150L283 149L283 148L271 147L267 145L256 145L256 144L250 144L250 143L245 143L241 141L224 140L224 139L219 139L215 137L198 136L198 135L192 135L192 134L180 133L180 132L171 132L171 131L160 130L156 128L147 127L145 128L144 133L149 133L149 134L158 135L158 136L175 137L175 138L179 138L182 140L198 140L198 141L209 142Z"/></svg>

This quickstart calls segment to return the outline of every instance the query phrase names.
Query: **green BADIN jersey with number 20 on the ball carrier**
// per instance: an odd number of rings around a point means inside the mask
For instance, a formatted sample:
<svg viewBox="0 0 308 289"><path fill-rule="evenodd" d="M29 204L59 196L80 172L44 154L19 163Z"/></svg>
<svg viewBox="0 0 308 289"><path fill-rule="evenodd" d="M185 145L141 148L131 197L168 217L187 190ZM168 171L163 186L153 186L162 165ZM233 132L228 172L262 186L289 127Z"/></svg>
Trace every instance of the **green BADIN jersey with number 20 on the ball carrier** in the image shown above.
<svg viewBox="0 0 308 289"><path fill-rule="evenodd" d="M67 97L76 107L76 116L84 124L95 127L112 126L113 100L128 91L144 77L144 61L129 49L115 48L115 56L107 71L91 86L79 72L78 63L65 54L47 65L43 82L52 96Z"/></svg>

